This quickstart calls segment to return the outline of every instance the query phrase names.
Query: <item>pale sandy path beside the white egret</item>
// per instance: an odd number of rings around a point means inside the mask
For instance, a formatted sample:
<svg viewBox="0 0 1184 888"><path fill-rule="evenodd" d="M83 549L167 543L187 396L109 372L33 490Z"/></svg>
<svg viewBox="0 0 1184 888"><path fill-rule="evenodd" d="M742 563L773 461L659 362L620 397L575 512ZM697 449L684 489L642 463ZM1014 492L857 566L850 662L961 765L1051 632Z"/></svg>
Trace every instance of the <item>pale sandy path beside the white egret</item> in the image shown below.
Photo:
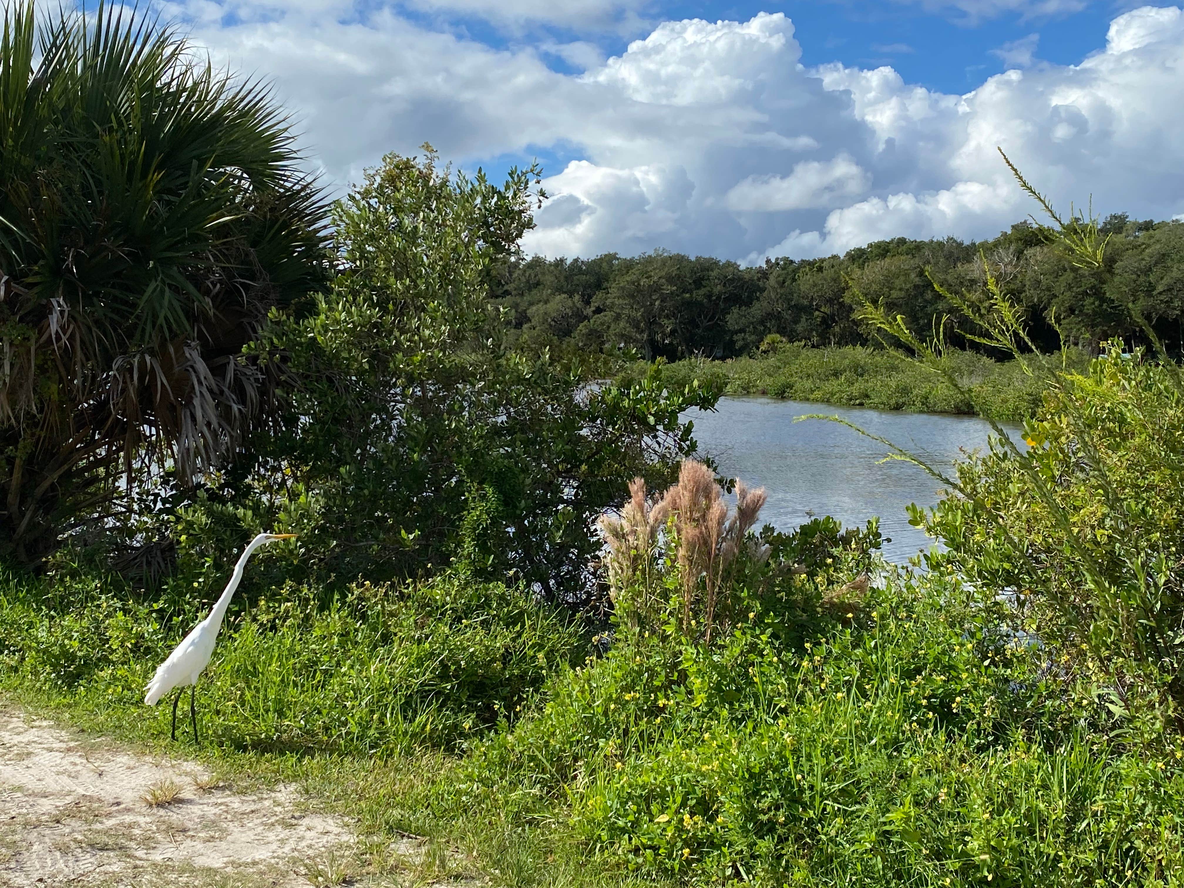
<svg viewBox="0 0 1184 888"><path fill-rule="evenodd" d="M0 886L307 887L309 862L350 854L345 824L302 811L292 789L199 789L208 779L0 703ZM149 807L168 780L179 799Z"/></svg>

